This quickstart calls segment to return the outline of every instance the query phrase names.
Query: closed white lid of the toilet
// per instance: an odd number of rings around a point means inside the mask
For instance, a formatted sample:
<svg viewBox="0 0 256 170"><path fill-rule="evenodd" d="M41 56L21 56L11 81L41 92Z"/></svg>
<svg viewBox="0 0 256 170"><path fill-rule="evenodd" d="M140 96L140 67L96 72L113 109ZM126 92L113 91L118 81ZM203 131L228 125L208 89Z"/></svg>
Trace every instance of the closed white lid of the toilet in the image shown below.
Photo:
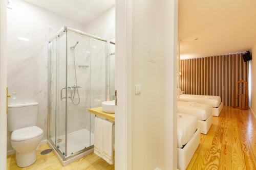
<svg viewBox="0 0 256 170"><path fill-rule="evenodd" d="M42 131L37 126L27 127L18 129L12 132L11 140L12 141L23 141L28 139L33 139L40 136L44 131Z"/></svg>

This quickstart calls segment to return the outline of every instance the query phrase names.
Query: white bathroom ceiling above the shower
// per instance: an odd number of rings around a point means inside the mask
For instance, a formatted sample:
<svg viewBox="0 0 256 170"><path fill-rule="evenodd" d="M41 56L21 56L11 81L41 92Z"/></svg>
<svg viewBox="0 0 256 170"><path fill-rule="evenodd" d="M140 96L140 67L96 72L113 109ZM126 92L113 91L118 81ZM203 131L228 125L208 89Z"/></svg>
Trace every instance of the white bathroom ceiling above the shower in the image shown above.
<svg viewBox="0 0 256 170"><path fill-rule="evenodd" d="M115 0L24 0L30 4L86 24L115 5Z"/></svg>

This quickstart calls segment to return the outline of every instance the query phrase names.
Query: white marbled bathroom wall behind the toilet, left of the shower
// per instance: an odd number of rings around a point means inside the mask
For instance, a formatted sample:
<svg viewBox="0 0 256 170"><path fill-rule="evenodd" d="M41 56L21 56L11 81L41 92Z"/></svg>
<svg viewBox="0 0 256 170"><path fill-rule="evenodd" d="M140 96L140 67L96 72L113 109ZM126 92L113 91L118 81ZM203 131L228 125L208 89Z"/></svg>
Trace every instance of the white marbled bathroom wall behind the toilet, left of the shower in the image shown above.
<svg viewBox="0 0 256 170"><path fill-rule="evenodd" d="M73 20L56 15L20 0L11 1L8 9L8 86L9 93L16 92L17 99L9 103L38 102L37 125L47 138L47 90L48 90L48 40L61 27L82 30ZM25 37L30 41L21 41ZM10 132L8 150L11 150Z"/></svg>

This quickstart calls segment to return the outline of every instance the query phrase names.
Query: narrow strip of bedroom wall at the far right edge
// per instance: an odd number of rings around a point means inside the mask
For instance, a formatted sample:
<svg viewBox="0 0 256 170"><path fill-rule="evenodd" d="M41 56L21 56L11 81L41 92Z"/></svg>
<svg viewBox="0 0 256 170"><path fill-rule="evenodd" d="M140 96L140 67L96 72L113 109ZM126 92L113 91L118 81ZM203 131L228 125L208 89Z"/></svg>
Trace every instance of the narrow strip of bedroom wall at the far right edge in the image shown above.
<svg viewBox="0 0 256 170"><path fill-rule="evenodd" d="M256 41L252 47L252 60L251 60L251 110L256 117ZM253 86L254 85L254 86Z"/></svg>

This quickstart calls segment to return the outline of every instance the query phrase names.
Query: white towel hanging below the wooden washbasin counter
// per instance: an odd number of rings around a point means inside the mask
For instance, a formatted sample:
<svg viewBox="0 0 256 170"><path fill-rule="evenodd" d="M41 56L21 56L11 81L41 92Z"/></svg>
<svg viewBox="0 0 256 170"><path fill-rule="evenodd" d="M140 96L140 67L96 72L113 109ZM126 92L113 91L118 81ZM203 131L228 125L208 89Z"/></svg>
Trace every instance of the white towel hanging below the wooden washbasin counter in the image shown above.
<svg viewBox="0 0 256 170"><path fill-rule="evenodd" d="M113 164L113 124L108 120L95 117L94 126L94 153L109 164Z"/></svg>

